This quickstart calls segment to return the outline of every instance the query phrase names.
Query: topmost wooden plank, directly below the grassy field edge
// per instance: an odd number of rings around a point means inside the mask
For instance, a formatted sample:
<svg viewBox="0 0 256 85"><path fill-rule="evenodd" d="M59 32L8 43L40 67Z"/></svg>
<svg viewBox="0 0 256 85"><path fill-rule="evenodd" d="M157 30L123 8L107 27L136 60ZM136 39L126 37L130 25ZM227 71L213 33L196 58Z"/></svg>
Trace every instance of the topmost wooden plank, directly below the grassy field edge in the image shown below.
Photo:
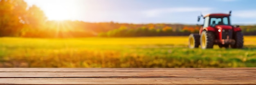
<svg viewBox="0 0 256 85"><path fill-rule="evenodd" d="M0 72L256 72L256 68L0 68Z"/></svg>

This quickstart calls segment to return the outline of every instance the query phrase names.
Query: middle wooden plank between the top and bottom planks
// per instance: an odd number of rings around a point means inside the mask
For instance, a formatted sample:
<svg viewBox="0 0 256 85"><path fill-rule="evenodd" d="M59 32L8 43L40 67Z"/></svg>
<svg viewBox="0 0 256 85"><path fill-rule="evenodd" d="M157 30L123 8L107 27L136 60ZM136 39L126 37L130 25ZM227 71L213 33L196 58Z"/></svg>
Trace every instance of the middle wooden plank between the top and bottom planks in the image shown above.
<svg viewBox="0 0 256 85"><path fill-rule="evenodd" d="M255 77L256 72L0 72L0 78Z"/></svg>

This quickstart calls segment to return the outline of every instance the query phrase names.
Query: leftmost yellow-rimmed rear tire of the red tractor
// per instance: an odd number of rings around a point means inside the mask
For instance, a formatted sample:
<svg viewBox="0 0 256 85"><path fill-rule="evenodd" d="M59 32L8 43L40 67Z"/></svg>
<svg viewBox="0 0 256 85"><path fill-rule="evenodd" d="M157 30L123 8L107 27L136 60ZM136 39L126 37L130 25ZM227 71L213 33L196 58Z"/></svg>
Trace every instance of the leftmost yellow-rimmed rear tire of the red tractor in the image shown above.
<svg viewBox="0 0 256 85"><path fill-rule="evenodd" d="M189 35L189 48L198 48L200 45L200 35L190 34Z"/></svg>

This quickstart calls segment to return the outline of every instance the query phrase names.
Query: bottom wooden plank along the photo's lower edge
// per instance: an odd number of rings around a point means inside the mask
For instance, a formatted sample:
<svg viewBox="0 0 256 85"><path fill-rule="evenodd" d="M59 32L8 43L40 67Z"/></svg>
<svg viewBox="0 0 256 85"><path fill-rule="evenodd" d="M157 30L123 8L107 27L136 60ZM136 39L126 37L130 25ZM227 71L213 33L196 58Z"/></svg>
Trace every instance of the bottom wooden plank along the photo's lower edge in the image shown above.
<svg viewBox="0 0 256 85"><path fill-rule="evenodd" d="M0 78L0 85L255 85L246 78Z"/></svg>

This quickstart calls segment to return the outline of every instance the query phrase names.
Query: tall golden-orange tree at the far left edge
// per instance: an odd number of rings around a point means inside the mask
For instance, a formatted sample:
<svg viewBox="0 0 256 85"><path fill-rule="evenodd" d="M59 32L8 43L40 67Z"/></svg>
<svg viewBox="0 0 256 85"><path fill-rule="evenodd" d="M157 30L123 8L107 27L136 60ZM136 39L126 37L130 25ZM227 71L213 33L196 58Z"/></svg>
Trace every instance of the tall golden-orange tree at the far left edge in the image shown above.
<svg viewBox="0 0 256 85"><path fill-rule="evenodd" d="M0 36L19 36L26 8L23 0L0 0Z"/></svg>

